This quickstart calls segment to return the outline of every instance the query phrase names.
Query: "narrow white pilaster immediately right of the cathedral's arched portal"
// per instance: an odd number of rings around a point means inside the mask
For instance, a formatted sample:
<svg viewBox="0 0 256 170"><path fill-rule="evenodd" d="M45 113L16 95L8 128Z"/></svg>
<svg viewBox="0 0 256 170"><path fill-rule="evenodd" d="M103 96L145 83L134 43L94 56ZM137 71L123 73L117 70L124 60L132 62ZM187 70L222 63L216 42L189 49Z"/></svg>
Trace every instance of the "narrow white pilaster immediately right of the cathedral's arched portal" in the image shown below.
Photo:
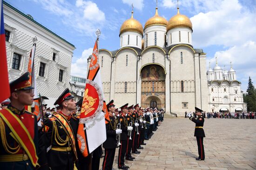
<svg viewBox="0 0 256 170"><path fill-rule="evenodd" d="M166 76L165 76L165 113L170 113L170 106L171 106L171 101L170 101L170 71L171 71L171 63L170 60L167 59L168 54L165 55L165 69L166 69Z"/></svg>

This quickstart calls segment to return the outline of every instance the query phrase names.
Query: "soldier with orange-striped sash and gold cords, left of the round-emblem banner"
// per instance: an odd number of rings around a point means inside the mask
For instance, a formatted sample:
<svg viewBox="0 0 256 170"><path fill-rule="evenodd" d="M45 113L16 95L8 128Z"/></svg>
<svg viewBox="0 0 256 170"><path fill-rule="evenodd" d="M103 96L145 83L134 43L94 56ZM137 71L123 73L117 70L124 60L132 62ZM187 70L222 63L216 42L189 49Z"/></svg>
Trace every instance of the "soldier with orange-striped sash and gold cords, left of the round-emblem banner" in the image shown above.
<svg viewBox="0 0 256 170"><path fill-rule="evenodd" d="M77 160L76 134L79 120L71 116L76 109L74 96L68 88L55 101L61 107L60 113L45 121L47 158L51 170L73 170Z"/></svg>

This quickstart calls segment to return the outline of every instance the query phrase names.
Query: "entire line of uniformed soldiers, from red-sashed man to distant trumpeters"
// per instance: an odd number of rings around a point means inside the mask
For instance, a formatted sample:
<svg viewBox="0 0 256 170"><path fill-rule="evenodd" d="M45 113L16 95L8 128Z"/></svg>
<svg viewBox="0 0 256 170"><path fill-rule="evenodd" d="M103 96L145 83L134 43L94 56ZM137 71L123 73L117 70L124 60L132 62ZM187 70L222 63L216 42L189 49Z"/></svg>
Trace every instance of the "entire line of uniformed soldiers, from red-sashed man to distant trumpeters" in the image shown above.
<svg viewBox="0 0 256 170"><path fill-rule="evenodd" d="M100 163L99 146L83 157L77 142L79 114L74 96L65 89L55 101L59 108L46 119L25 110L34 101L34 88L25 73L10 83L10 103L0 110L0 167L3 170L97 170ZM115 114L114 101L108 103L106 119L107 140L103 143L103 170L112 170L116 146L119 146L118 168L128 169L124 159L132 161L132 153L146 145L163 120L163 111L141 109L138 104L121 107ZM42 108L46 113L46 108ZM43 122L41 125L41 121Z"/></svg>

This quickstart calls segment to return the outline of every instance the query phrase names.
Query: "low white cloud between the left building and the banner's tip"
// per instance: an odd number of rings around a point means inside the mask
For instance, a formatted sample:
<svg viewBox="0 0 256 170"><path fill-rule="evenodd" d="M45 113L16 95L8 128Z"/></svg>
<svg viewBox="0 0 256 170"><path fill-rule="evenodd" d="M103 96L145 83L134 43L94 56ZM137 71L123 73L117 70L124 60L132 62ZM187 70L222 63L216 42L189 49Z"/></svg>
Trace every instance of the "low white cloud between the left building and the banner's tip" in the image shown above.
<svg viewBox="0 0 256 170"><path fill-rule="evenodd" d="M78 58L75 63L71 64L71 75L72 76L87 76L87 59L93 53L93 48L88 48L82 52L82 56Z"/></svg>

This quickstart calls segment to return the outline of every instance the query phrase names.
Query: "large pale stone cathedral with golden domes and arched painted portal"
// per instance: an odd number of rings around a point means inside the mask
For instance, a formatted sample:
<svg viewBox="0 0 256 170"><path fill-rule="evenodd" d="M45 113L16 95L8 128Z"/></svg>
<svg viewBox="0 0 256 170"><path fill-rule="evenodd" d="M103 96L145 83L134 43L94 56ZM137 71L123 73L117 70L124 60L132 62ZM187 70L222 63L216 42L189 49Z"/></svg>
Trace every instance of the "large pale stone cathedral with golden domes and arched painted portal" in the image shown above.
<svg viewBox="0 0 256 170"><path fill-rule="evenodd" d="M178 116L194 107L212 111L206 53L193 48L192 32L190 19L179 7L169 21L156 7L144 27L132 12L120 28L120 49L99 50L106 102L113 99L116 107L139 103Z"/></svg>

